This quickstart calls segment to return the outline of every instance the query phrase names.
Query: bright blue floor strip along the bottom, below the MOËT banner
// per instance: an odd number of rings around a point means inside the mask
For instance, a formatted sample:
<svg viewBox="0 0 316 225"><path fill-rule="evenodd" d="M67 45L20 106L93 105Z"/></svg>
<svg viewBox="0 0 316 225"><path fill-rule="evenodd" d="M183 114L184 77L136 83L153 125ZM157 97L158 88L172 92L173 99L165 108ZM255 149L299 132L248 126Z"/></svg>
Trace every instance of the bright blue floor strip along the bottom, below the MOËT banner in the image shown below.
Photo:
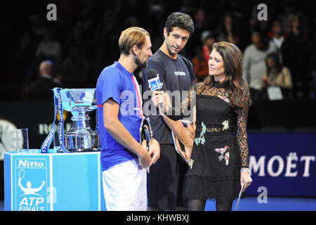
<svg viewBox="0 0 316 225"><path fill-rule="evenodd" d="M235 210L236 201L232 205ZM215 210L215 202L206 202L206 211ZM0 211L4 211L4 200L0 200ZM247 197L239 202L238 211L316 211L316 198L268 197L268 203L258 203L256 197Z"/></svg>

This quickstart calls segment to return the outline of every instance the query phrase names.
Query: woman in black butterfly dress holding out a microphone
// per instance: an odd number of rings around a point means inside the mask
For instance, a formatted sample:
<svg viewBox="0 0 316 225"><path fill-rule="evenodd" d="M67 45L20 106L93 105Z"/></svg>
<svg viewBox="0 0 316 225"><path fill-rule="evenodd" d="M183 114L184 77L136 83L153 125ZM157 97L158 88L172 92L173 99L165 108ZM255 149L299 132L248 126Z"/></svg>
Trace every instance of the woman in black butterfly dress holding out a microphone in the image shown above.
<svg viewBox="0 0 316 225"><path fill-rule="evenodd" d="M249 86L242 78L242 52L234 44L213 44L209 76L192 86L180 108L169 107L169 96L154 91L155 105L165 103L164 112L173 120L194 102L196 126L192 165L185 180L188 210L204 210L206 200L216 200L216 210L231 210L251 184L248 164L246 120L250 105ZM243 190L243 191L244 191ZM244 194L243 194L244 197ZM242 197L242 198L243 198Z"/></svg>

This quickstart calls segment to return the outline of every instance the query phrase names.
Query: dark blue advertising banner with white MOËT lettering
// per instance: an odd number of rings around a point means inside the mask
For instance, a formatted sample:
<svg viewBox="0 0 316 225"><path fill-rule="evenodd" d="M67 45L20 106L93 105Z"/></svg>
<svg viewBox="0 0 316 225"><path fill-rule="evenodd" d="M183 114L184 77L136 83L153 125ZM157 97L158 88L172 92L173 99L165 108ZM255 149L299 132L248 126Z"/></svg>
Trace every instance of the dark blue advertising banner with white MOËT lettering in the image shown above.
<svg viewBox="0 0 316 225"><path fill-rule="evenodd" d="M247 194L316 197L316 133L251 133Z"/></svg>

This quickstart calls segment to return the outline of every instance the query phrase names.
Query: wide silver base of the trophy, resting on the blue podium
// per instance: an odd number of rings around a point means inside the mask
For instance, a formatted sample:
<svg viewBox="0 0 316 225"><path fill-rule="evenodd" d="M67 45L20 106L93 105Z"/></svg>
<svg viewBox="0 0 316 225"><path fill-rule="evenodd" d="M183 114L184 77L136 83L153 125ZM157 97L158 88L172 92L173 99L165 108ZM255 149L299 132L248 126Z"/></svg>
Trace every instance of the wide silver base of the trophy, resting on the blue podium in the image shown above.
<svg viewBox="0 0 316 225"><path fill-rule="evenodd" d="M65 134L65 148L70 152L100 151L99 136L96 133Z"/></svg>

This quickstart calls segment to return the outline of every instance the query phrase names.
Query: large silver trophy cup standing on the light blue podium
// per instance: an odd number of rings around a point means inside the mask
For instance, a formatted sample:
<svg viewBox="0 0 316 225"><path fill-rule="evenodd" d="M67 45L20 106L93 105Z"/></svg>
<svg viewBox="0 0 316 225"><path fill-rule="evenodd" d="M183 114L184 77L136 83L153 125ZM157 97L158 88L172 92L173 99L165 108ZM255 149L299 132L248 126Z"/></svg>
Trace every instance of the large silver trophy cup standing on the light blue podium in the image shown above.
<svg viewBox="0 0 316 225"><path fill-rule="evenodd" d="M98 108L96 89L60 90L62 108L72 113L72 128L64 134L65 148L70 152L100 150L99 135L89 124L89 113Z"/></svg>

